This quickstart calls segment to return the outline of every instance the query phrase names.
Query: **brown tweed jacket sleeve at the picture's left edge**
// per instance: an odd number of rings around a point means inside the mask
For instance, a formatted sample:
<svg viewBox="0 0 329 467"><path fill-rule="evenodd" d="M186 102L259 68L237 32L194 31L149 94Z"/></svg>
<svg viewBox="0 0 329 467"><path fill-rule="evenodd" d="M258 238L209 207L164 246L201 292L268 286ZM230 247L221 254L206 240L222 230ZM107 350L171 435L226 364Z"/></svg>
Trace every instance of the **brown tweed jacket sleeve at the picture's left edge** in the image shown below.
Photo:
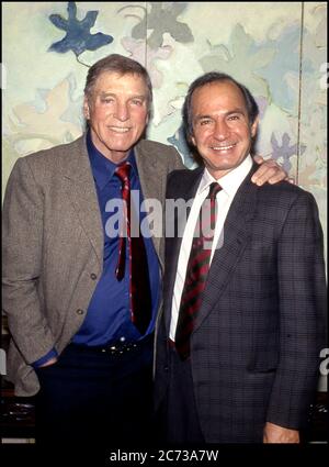
<svg viewBox="0 0 329 467"><path fill-rule="evenodd" d="M38 279L43 252L43 192L29 158L10 175L3 201L3 310L23 358L31 364L46 355L54 338L43 313Z"/></svg>

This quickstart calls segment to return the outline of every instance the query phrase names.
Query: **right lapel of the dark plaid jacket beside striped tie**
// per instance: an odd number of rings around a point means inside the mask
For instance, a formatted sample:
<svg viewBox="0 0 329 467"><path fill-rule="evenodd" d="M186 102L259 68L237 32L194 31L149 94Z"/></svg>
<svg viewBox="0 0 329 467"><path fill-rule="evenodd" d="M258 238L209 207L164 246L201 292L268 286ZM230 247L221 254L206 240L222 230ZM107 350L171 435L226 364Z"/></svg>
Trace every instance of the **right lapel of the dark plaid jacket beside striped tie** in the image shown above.
<svg viewBox="0 0 329 467"><path fill-rule="evenodd" d="M254 168L251 169L237 191L225 220L223 246L218 247L214 254L194 331L218 302L240 256L250 242L251 221L256 212L258 190L258 187L250 180Z"/></svg>

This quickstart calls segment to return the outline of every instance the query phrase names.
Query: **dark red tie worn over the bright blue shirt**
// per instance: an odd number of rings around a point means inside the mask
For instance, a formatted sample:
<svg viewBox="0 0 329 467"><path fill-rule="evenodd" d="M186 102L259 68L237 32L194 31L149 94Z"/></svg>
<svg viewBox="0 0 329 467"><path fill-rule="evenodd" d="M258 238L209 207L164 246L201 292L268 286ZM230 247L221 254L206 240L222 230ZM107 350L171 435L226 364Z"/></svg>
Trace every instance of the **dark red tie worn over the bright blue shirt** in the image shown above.
<svg viewBox="0 0 329 467"><path fill-rule="evenodd" d="M151 293L146 248L140 234L140 224L134 208L131 208L131 164L124 163L115 170L115 175L122 181L122 198L124 210L124 230L118 240L118 259L115 269L117 280L125 275L126 240L129 254L129 294L132 321L140 334L145 334L151 319ZM133 216L133 218L132 218ZM133 224L136 222L136 224ZM137 226L137 236L132 236L132 225Z"/></svg>

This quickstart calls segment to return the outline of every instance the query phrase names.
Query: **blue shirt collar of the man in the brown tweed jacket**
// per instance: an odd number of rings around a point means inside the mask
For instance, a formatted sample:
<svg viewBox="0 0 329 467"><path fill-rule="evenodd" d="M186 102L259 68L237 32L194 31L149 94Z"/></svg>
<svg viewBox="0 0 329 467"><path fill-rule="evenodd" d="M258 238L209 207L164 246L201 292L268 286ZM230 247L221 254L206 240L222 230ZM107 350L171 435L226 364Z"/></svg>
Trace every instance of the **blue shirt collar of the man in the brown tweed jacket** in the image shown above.
<svg viewBox="0 0 329 467"><path fill-rule="evenodd" d="M120 164L114 164L112 160L107 159L93 144L91 140L90 131L87 133L87 149L89 154L90 165L92 169L92 175L95 180L95 184L100 190L102 190L106 184L111 180L114 175L116 167ZM137 174L137 164L135 158L134 148L131 149L128 157L125 159L132 165L132 169ZM132 175L131 175L132 177Z"/></svg>

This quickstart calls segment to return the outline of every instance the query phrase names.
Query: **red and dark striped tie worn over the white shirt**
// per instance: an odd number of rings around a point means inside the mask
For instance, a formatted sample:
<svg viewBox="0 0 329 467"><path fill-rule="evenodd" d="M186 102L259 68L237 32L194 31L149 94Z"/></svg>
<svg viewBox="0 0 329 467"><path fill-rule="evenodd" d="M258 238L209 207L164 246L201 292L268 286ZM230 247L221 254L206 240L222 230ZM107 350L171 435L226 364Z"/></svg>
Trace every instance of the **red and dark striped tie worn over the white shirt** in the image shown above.
<svg viewBox="0 0 329 467"><path fill-rule="evenodd" d="M175 331L175 348L181 359L190 355L190 336L202 303L216 224L216 194L220 190L217 182L211 185L195 226Z"/></svg>

